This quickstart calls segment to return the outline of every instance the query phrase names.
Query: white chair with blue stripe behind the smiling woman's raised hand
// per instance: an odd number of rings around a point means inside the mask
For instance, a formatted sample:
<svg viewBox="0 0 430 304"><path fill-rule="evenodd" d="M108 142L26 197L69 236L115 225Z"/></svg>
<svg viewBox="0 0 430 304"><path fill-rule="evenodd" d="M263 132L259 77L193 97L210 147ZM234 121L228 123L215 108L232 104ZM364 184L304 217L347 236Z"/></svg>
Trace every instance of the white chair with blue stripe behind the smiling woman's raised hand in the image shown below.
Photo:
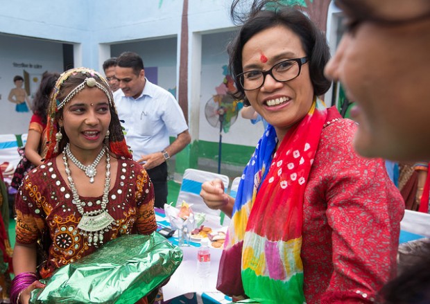
<svg viewBox="0 0 430 304"><path fill-rule="evenodd" d="M214 172L196 169L185 170L176 206L180 206L182 201L187 202L187 204L193 204L191 208L194 212L205 213L207 215L207 219L209 217L213 217L214 219L216 218L218 223L221 224L221 211L212 210L207 207L205 202L203 202L202 197L200 197L202 184L205 181L211 181L212 179L221 179L224 184L224 189L228 189L230 179L227 175L220 175Z"/></svg>

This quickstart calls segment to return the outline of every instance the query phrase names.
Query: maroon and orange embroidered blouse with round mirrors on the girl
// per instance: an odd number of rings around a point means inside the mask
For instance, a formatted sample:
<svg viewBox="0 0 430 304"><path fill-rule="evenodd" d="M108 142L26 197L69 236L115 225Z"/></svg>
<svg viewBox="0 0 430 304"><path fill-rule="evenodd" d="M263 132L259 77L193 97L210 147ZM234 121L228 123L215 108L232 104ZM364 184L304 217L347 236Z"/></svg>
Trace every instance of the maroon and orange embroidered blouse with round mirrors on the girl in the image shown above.
<svg viewBox="0 0 430 304"><path fill-rule="evenodd" d="M157 229L154 190L146 170L135 161L118 159L117 180L109 193L106 211L114 218L104 242L130 233L150 234ZM100 197L80 197L85 212L101 209ZM89 204L89 202L91 202ZM48 259L40 269L47 278L58 267L79 260L96 250L77 228L81 215L72 203L69 184L62 179L55 161L28 173L16 199L16 241L37 242L49 234Z"/></svg>

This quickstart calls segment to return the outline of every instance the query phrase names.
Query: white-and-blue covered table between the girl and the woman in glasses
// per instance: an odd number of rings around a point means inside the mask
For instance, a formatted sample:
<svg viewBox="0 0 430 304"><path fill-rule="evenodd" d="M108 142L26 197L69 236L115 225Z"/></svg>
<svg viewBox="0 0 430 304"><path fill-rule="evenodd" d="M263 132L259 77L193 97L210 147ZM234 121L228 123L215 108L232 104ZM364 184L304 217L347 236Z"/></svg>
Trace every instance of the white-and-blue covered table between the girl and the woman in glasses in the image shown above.
<svg viewBox="0 0 430 304"><path fill-rule="evenodd" d="M157 230L170 228L166 220L164 210L155 208L155 217L157 220ZM168 239L172 244L178 244L178 238L174 235ZM232 302L232 298L225 296L222 292L215 289L216 277L218 276L218 265L221 258L221 249L211 251L211 275L205 278L205 282L200 278L193 276L197 265L197 250L200 247L198 242L190 242L189 247L181 247L184 253L184 259L175 274L169 280L169 283L162 287L166 300L158 301L159 304L227 304ZM185 278L185 280L184 280ZM207 285L205 285L207 284ZM209 285L209 286L208 286ZM172 296L175 296L172 298Z"/></svg>

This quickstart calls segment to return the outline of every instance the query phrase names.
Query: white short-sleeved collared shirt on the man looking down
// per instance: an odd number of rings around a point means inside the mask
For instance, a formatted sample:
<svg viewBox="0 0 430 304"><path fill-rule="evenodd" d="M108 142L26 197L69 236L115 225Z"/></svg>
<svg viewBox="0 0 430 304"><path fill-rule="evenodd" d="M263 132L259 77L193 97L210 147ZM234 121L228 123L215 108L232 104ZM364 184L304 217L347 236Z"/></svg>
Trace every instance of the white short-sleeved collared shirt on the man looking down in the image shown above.
<svg viewBox="0 0 430 304"><path fill-rule="evenodd" d="M173 95L147 79L138 98L127 97L119 89L114 93L114 102L119 119L124 120L121 125L135 161L141 155L160 152L170 145L169 136L177 136L188 129Z"/></svg>

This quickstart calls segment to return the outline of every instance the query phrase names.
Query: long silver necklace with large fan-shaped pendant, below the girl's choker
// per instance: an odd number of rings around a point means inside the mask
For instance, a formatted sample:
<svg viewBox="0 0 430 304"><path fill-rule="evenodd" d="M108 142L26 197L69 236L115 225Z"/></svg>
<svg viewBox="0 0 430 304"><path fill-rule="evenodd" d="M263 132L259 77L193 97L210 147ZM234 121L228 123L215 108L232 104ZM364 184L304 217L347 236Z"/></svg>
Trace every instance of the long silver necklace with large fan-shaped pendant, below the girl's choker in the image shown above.
<svg viewBox="0 0 430 304"><path fill-rule="evenodd" d="M69 147L69 144L67 144L67 147ZM73 196L71 202L76 206L76 208L78 208L78 212L80 213L80 215L82 215L77 227L80 230L79 234L88 238L88 246L94 244L94 246L96 247L98 247L99 244L103 244L104 233L112 229L112 223L114 222L114 218L112 217L112 215L110 215L106 211L106 206L109 202L108 197L110 188L110 156L109 152L107 152L104 146L102 151L106 152L106 176L105 188L103 188L103 197L101 200L101 209L87 212L84 211L84 206L92 206L92 203L85 203L80 200L78 190L76 190L75 183L71 178L69 163L67 162L67 151L63 150L62 152L62 159L65 163L67 180L69 181L71 194ZM73 154L71 154L71 156L74 157ZM69 158L71 159L71 157Z"/></svg>

